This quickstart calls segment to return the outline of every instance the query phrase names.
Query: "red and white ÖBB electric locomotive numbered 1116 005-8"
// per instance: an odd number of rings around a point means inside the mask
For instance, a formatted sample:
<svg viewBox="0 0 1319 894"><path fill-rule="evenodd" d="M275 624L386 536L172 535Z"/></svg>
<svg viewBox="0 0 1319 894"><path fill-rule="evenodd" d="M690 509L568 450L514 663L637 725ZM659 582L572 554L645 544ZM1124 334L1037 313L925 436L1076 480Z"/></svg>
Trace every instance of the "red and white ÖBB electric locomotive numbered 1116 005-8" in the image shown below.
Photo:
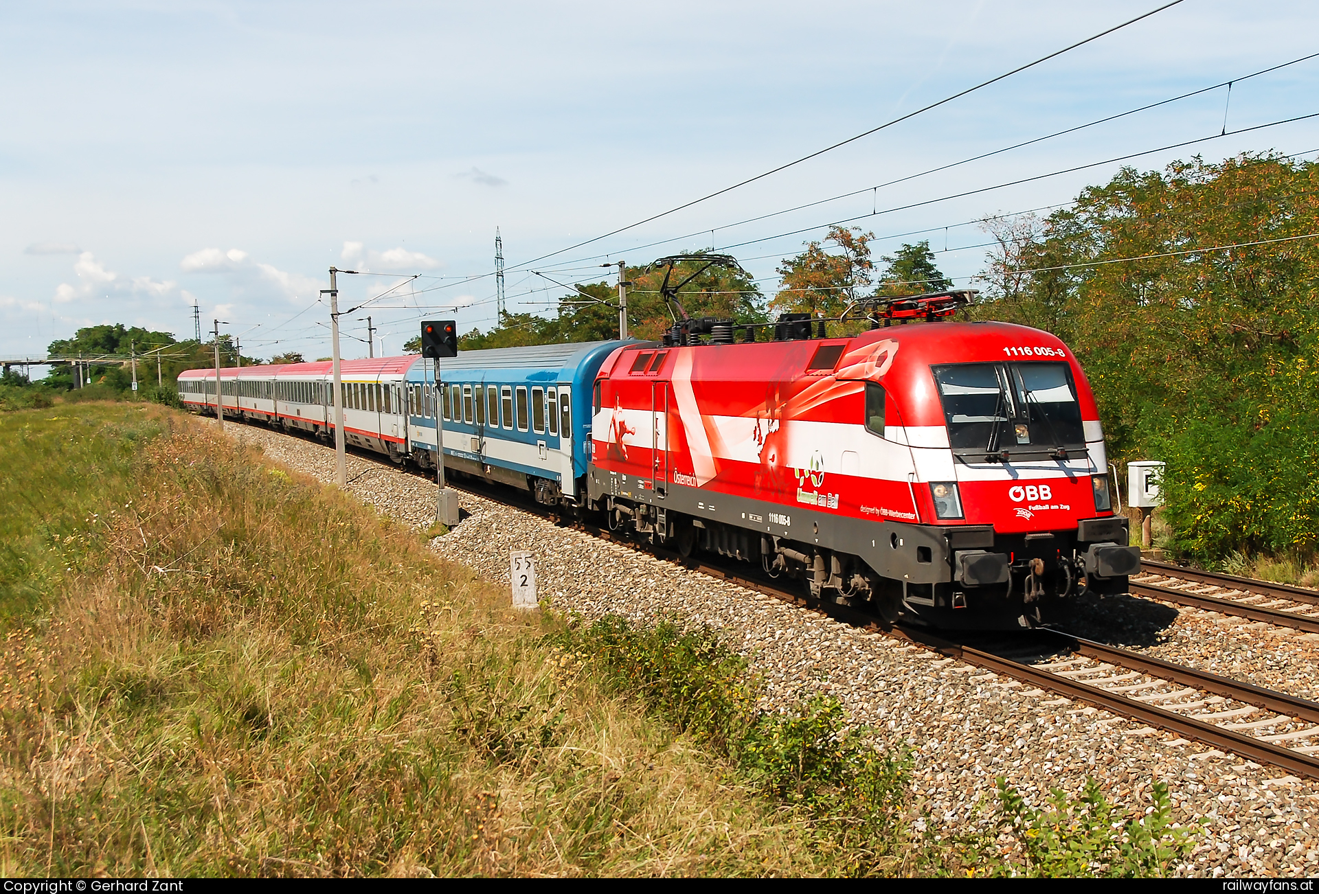
<svg viewBox="0 0 1319 894"><path fill-rule="evenodd" d="M1033 626L1087 588L1124 592L1140 551L1080 365L1039 330L936 322L967 299L890 303L856 336L683 320L619 348L595 382L588 498L613 527L886 620ZM889 326L904 315L935 322Z"/></svg>

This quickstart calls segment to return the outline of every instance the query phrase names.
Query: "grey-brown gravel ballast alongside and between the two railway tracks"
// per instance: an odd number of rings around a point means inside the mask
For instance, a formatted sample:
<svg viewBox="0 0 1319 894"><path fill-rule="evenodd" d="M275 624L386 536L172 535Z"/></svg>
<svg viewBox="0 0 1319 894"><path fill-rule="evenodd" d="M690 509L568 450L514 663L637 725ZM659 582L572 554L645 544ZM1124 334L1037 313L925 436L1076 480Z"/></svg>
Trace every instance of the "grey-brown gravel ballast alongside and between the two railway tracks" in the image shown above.
<svg viewBox="0 0 1319 894"><path fill-rule="evenodd" d="M255 426L227 431L295 472L334 480L332 448ZM348 477L348 489L377 512L417 527L434 521L433 480L351 455ZM1208 819L1181 874L1308 876L1319 868L1319 786L1310 781L1207 745L1169 741L1167 733L481 497L462 493L459 502L467 516L431 542L437 554L508 584L509 551L530 550L541 599L559 609L678 617L720 630L749 657L772 703L830 692L890 746L910 748L914 795L950 831L987 821L983 807L993 804L998 775L1031 800L1055 787L1075 794L1093 777L1111 800L1148 803L1150 781L1161 779L1182 823ZM1182 609L1161 621L1149 605L1136 605L1148 601L1096 601L1079 622L1103 622L1119 637L1109 641L1167 661L1319 696L1315 641L1211 612Z"/></svg>

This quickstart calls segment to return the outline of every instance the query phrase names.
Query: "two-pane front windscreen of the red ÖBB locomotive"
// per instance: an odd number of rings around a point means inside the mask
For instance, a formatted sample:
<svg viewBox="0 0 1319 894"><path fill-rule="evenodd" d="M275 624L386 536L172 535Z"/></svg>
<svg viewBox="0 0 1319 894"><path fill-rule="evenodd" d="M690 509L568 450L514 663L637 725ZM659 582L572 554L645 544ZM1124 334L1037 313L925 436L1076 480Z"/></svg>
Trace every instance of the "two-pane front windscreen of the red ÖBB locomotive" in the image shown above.
<svg viewBox="0 0 1319 894"><path fill-rule="evenodd" d="M931 367L958 455L1084 450L1076 382L1066 363Z"/></svg>

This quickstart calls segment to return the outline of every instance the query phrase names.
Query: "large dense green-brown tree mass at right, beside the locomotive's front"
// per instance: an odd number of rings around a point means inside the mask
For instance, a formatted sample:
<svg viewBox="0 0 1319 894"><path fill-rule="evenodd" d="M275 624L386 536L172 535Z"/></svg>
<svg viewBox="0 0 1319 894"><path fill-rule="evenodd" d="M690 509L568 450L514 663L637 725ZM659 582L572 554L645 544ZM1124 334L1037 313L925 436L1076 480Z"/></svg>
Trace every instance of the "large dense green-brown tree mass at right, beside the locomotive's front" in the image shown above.
<svg viewBox="0 0 1319 894"><path fill-rule="evenodd" d="M987 278L1016 287L987 290L975 313L1049 328L1071 345L1115 456L1167 460L1177 546L1204 559L1312 554L1314 232L1314 162L1246 153L1124 169L1050 215L1014 254L992 256Z"/></svg>

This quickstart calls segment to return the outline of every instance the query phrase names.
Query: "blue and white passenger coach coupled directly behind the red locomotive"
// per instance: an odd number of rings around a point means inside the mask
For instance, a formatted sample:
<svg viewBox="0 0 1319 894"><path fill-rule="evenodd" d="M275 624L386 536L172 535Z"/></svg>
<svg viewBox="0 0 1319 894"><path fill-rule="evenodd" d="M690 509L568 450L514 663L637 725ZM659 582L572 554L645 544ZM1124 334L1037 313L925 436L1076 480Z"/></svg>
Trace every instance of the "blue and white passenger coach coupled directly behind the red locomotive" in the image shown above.
<svg viewBox="0 0 1319 894"><path fill-rule="evenodd" d="M630 342L462 351L408 371L408 440L434 467L435 413L445 423L445 468L530 491L539 502L586 496L591 388L609 353ZM438 403L438 407L437 407Z"/></svg>

